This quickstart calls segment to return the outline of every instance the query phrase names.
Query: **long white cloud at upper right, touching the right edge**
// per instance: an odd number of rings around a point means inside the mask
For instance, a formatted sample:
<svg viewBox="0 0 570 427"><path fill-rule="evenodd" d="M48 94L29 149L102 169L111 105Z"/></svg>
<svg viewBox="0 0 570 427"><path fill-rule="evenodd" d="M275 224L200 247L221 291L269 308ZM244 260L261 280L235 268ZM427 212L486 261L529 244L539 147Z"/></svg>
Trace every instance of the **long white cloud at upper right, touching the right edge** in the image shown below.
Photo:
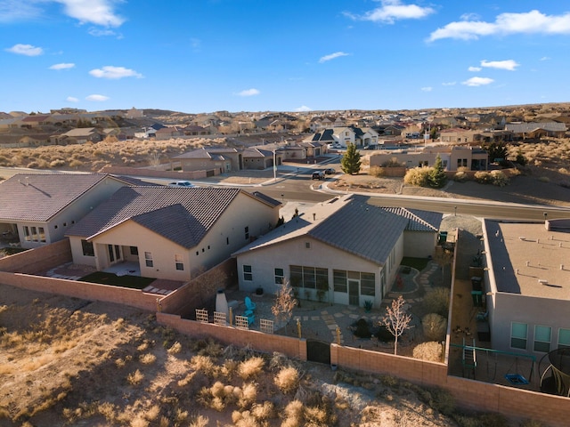
<svg viewBox="0 0 570 427"><path fill-rule="evenodd" d="M561 15L545 15L539 11L522 13L501 13L494 22L462 20L450 22L444 28L437 28L428 41L440 38L460 40L478 39L480 36L509 36L512 34L570 34L570 12Z"/></svg>

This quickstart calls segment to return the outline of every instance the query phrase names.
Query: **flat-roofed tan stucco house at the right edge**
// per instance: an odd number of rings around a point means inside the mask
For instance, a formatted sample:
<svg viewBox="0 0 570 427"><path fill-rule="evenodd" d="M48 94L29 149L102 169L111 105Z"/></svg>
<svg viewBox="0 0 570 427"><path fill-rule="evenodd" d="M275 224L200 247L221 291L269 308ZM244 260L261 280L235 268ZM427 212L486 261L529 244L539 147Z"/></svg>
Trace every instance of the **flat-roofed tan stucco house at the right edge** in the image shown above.
<svg viewBox="0 0 570 427"><path fill-rule="evenodd" d="M570 220L483 225L483 285L474 292L486 301L492 348L540 359L570 347Z"/></svg>

